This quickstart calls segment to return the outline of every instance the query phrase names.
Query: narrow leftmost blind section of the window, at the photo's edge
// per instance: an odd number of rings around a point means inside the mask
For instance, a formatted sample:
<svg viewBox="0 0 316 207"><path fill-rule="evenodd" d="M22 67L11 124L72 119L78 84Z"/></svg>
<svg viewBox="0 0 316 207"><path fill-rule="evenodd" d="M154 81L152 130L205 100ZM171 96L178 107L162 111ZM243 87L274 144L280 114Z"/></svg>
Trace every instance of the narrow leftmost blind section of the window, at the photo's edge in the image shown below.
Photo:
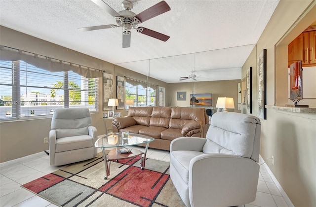
<svg viewBox="0 0 316 207"><path fill-rule="evenodd" d="M0 119L15 118L12 114L12 81L15 78L12 62L0 61Z"/></svg>

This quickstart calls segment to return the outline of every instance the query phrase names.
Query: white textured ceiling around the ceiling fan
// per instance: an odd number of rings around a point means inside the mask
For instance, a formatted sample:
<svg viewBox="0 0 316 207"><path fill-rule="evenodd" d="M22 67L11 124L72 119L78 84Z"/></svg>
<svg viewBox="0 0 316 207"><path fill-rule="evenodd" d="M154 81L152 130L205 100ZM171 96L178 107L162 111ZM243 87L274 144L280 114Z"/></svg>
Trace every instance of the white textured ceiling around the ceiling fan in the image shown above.
<svg viewBox="0 0 316 207"><path fill-rule="evenodd" d="M120 11L122 0L104 0ZM117 64L167 83L195 70L198 81L241 79L241 67L278 0L165 0L171 10L139 26L169 35L166 42L132 30L78 28L116 24L91 0L0 0L0 25ZM139 0L136 14L159 0ZM195 54L194 54L195 53ZM67 61L67 57L64 58ZM188 82L192 80L184 80Z"/></svg>

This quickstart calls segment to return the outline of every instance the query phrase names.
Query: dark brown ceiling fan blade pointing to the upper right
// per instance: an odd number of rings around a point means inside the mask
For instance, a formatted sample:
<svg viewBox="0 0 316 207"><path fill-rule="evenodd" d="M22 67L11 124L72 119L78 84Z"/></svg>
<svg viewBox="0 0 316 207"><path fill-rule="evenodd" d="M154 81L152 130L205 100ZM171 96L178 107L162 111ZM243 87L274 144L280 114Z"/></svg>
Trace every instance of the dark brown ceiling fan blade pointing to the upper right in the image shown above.
<svg viewBox="0 0 316 207"><path fill-rule="evenodd" d="M134 20L135 21L139 20L138 23L142 23L160 14L163 14L164 12L167 12L170 9L171 9L170 6L163 0L153 5L152 7L149 7L148 9L137 14L135 16L136 20L135 19Z"/></svg>

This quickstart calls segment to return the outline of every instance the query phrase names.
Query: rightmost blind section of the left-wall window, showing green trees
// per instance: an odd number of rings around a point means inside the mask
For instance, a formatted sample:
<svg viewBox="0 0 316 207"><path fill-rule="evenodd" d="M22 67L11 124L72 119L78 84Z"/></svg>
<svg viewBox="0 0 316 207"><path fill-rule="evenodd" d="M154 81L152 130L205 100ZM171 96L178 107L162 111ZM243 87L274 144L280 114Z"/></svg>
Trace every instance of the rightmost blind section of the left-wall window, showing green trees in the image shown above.
<svg viewBox="0 0 316 207"><path fill-rule="evenodd" d="M90 111L98 108L98 78L85 78L68 72L69 107L87 107Z"/></svg>

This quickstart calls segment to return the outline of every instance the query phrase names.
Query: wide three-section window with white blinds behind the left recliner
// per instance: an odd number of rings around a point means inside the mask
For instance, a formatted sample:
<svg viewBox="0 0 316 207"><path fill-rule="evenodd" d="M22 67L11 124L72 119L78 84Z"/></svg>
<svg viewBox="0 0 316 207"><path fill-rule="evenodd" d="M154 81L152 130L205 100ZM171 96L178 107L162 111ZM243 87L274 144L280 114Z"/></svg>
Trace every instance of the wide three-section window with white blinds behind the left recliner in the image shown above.
<svg viewBox="0 0 316 207"><path fill-rule="evenodd" d="M50 72L23 61L0 61L0 119L50 115L56 108L98 110L98 78Z"/></svg>

